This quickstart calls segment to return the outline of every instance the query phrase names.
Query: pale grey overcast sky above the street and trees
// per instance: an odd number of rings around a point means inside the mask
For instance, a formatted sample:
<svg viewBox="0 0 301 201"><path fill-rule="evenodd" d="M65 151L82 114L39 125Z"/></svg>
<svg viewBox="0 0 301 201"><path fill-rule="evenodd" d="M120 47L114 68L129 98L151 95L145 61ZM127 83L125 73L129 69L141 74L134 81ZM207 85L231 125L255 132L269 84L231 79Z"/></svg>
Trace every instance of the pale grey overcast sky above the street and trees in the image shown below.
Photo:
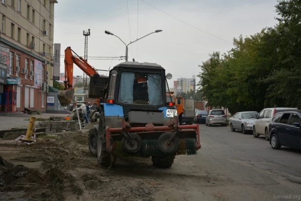
<svg viewBox="0 0 301 201"><path fill-rule="evenodd" d="M61 43L61 55L71 46L78 55L84 56L83 30L90 28L88 62L96 69L108 70L111 59L89 57L125 56L125 45L105 34L105 30L128 44L131 39L137 39L137 29L138 38L162 29L130 45L129 61L134 58L162 65L166 73L172 74L169 87L173 87L173 80L199 74L198 65L209 59L208 54L230 50L233 38L253 35L275 25L276 4L277 0L128 0L129 27L127 0L58 0L54 41ZM123 61L112 60L111 68ZM60 72L64 72L64 58L61 58ZM83 75L76 65L74 75Z"/></svg>

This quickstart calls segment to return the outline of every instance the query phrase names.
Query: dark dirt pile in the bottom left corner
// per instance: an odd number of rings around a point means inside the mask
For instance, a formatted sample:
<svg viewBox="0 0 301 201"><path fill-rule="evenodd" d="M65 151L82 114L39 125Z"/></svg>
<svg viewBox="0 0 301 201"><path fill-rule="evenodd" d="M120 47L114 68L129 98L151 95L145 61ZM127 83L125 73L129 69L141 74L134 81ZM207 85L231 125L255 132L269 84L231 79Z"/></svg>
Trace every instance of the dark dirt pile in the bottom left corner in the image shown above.
<svg viewBox="0 0 301 201"><path fill-rule="evenodd" d="M0 195L4 200L30 198L33 201L61 201L64 200L65 189L75 195L82 194L73 176L65 175L60 169L52 168L42 175L37 169L13 165L0 157ZM5 192L16 193L6 195Z"/></svg>

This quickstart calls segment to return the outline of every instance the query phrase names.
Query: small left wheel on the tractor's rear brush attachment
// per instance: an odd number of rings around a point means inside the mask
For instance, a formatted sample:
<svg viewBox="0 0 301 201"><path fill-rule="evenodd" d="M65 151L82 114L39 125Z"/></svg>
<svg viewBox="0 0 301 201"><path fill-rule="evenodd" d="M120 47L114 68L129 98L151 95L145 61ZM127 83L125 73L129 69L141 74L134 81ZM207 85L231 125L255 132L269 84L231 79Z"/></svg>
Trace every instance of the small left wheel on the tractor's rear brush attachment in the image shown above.
<svg viewBox="0 0 301 201"><path fill-rule="evenodd" d="M142 147L142 138L135 133L130 133L129 134L133 145L130 144L130 142L128 141L128 139L126 137L123 137L121 143L122 143L122 148L123 150L125 150L126 152L130 153L130 154L136 154L141 150Z"/></svg>

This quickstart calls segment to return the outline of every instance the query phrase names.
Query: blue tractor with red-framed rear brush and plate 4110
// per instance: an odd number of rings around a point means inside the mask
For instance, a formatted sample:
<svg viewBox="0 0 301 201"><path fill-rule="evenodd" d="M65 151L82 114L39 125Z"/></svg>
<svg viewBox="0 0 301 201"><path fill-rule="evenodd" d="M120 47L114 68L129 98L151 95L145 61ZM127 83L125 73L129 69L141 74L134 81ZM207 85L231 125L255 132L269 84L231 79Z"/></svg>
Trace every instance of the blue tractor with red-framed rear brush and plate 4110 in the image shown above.
<svg viewBox="0 0 301 201"><path fill-rule="evenodd" d="M179 125L174 102L168 102L165 69L156 63L125 61L109 77L91 76L89 97L100 98L99 124L90 132L90 152L101 166L117 157L151 157L170 167L176 155L201 148L199 125Z"/></svg>

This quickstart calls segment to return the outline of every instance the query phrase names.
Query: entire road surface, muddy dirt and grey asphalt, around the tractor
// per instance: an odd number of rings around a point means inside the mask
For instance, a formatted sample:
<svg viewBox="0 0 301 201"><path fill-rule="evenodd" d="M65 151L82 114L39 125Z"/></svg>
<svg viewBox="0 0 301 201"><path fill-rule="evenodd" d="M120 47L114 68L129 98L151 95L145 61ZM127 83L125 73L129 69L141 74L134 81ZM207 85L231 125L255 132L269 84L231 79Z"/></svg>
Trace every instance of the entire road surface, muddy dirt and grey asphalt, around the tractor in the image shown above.
<svg viewBox="0 0 301 201"><path fill-rule="evenodd" d="M56 176L65 174L65 180L72 175L72 180L64 182L63 190L46 194L44 189L49 186L41 185L26 191L30 193L24 201L43 200L41 195L60 200L54 197L59 195L65 201L301 200L300 150L274 150L263 137L231 132L229 126L201 124L200 131L202 148L198 154L176 156L168 169L154 167L150 158L132 157L117 159L112 169L101 168L88 151L88 131L80 135L66 133L56 144L37 141L31 149L0 140L0 156L43 174L56 167L63 172ZM4 200L24 198L16 191L0 192L1 196Z"/></svg>

